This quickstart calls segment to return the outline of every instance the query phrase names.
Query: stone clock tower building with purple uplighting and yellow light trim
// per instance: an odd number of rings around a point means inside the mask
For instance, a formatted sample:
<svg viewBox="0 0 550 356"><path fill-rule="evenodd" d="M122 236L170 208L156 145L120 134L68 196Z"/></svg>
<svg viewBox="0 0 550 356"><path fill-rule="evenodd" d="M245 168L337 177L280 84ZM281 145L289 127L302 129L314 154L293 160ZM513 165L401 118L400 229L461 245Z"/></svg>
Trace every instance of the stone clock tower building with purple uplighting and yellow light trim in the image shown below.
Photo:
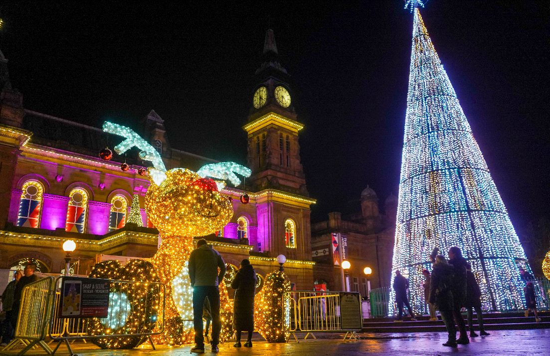
<svg viewBox="0 0 550 356"><path fill-rule="evenodd" d="M243 186L225 188L233 197L234 216L206 238L227 263L249 258L265 276L276 269L276 257L287 257L285 271L298 289L311 289L310 205L300 163L299 123L288 74L278 62L273 32L267 31L265 62L256 71L251 110L243 129L248 134L252 176L249 204L241 204ZM147 258L158 247L158 231L141 209L144 227L125 224L134 194L140 206L149 187L136 157L104 161L98 153L114 146L98 127L26 109L23 94L10 84L7 60L0 52L0 268L27 260L42 272L64 268L62 244L74 240L73 261L80 274L90 271L101 255ZM259 97L256 93L260 91ZM161 153L167 169L196 171L217 160L180 151L154 111L133 127ZM122 171L126 162L130 169Z"/></svg>

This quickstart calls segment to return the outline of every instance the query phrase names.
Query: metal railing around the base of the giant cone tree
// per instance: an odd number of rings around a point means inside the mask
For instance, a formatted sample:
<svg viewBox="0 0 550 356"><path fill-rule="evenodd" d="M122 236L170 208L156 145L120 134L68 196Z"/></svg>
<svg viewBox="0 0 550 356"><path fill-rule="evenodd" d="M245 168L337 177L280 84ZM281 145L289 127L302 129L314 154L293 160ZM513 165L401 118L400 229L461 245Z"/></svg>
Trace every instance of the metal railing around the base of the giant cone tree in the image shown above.
<svg viewBox="0 0 550 356"><path fill-rule="evenodd" d="M541 279L532 279L530 280L533 283L533 288L535 289L535 297L537 303L537 309L550 309L550 281L546 278ZM521 281L521 285L525 286L527 281ZM513 286L513 284L510 284ZM524 299L523 291L521 290L522 299ZM395 301L390 299L391 288L382 287L376 288L370 291L370 302L371 302L371 316L373 318L384 318L389 316L389 305L395 304ZM428 307L426 301L424 300L423 294L420 305L413 305L411 301L411 307L414 309L415 313L419 314L428 314ZM522 305L510 305L510 308L505 310L491 310L489 304L482 304L482 309L485 311L514 311L514 310L525 310L526 304L523 301ZM393 305L393 310L397 314L397 307ZM394 315L394 314L392 314Z"/></svg>

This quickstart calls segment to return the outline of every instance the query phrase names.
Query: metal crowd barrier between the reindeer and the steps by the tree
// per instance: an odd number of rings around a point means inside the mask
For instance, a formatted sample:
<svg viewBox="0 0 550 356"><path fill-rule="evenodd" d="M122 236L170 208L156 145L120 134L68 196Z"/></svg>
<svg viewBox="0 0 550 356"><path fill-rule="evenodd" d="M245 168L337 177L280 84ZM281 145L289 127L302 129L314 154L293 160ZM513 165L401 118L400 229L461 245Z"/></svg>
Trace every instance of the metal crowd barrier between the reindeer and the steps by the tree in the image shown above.
<svg viewBox="0 0 550 356"><path fill-rule="evenodd" d="M346 329L342 320L342 305L340 294L343 292L322 291L285 291L283 294L283 331L298 341L296 332L306 332L304 340L310 335L316 338L313 332L345 332L344 340L359 340L357 331L362 326L361 296L356 294L358 307L356 318L360 320L360 326Z"/></svg>

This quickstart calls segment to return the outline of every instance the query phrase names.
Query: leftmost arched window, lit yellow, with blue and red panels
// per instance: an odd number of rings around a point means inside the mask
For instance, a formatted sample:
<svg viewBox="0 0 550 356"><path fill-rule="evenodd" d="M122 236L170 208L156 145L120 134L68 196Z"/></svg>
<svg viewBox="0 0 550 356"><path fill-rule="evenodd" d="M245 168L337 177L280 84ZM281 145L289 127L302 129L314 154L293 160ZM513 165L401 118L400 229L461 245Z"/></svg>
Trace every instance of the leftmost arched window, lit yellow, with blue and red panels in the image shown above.
<svg viewBox="0 0 550 356"><path fill-rule="evenodd" d="M17 226L37 228L40 226L40 209L42 208L44 188L37 181L26 181L21 190L23 192L19 200Z"/></svg>

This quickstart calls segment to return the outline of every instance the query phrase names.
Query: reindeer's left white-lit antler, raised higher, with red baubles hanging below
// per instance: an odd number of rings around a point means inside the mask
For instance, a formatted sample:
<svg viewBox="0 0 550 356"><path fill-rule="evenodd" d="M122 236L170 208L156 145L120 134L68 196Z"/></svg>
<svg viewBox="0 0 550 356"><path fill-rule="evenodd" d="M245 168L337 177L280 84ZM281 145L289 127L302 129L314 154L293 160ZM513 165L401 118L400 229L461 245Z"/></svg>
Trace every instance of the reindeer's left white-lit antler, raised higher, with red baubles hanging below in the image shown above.
<svg viewBox="0 0 550 356"><path fill-rule="evenodd" d="M162 157L160 154L158 154L155 147L147 143L147 141L145 141L143 138L141 138L140 135L135 133L134 130L126 126L105 121L105 123L103 123L103 131L113 133L113 135L126 137L126 140L120 142L119 144L117 144L117 146L114 147L114 151L116 151L118 154L122 154L134 146L138 147L139 149L141 149L141 152L139 153L139 157L141 159L151 161L156 169L166 172L166 166L164 165L164 162L162 162Z"/></svg>

